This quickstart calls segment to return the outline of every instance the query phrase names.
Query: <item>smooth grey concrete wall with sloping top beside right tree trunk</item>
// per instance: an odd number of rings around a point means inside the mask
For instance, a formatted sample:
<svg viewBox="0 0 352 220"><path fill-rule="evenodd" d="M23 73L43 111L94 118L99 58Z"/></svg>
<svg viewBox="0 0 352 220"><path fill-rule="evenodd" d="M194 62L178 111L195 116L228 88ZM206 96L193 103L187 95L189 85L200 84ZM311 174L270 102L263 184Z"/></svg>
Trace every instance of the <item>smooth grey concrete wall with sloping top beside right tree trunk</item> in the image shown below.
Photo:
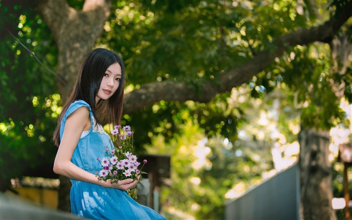
<svg viewBox="0 0 352 220"><path fill-rule="evenodd" d="M299 219L298 164L228 202L225 219Z"/></svg>

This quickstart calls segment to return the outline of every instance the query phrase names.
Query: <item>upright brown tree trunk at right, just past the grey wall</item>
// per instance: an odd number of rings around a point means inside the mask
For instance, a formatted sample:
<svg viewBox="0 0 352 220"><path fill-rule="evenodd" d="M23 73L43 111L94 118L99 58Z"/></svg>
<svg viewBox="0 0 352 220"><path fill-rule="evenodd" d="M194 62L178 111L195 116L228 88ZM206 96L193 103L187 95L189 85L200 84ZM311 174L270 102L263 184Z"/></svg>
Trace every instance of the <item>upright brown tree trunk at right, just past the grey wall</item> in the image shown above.
<svg viewBox="0 0 352 220"><path fill-rule="evenodd" d="M332 168L329 162L329 131L304 129L300 143L300 219L336 219L332 208Z"/></svg>

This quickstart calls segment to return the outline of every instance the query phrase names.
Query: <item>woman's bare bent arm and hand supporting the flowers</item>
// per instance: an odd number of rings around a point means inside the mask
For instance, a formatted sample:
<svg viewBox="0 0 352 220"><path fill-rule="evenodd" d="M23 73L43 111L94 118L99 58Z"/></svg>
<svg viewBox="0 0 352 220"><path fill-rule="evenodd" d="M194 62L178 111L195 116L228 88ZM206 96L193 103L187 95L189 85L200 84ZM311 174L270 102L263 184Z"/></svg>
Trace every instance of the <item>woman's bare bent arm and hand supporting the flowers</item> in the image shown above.
<svg viewBox="0 0 352 220"><path fill-rule="evenodd" d="M89 110L80 107L67 117L62 139L56 154L53 171L75 180L95 183L104 187L127 190L135 187L138 181L133 179L119 180L118 183L110 181L99 181L94 174L91 174L71 162L72 155L83 130L91 126Z"/></svg>

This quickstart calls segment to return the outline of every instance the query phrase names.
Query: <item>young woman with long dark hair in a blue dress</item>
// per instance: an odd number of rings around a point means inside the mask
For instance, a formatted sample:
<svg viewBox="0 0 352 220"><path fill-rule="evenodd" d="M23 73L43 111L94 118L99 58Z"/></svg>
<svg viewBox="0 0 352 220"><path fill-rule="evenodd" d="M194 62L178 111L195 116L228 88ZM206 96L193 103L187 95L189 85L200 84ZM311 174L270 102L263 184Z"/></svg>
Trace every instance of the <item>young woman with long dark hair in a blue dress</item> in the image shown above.
<svg viewBox="0 0 352 220"><path fill-rule="evenodd" d="M59 147L54 172L70 178L71 212L91 219L165 219L127 195L138 180L99 181L109 135L101 124L120 124L125 69L121 57L98 48L85 57L53 140Z"/></svg>

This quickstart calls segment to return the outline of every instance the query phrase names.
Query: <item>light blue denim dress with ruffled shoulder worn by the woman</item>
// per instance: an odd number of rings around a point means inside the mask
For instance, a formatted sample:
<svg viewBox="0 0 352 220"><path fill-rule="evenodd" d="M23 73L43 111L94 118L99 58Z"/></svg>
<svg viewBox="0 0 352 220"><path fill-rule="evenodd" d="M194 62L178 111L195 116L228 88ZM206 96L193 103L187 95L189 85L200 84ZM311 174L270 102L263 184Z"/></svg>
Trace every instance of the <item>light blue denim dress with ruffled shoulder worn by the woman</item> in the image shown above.
<svg viewBox="0 0 352 220"><path fill-rule="evenodd" d="M109 135L102 125L97 124L91 107L86 102L78 100L68 107L61 122L60 138L67 117L80 107L89 109L91 129L89 134L79 139L71 162L96 175L96 172L101 170L101 163L97 161L97 158L104 158L106 147L110 148ZM70 180L72 183L71 212L73 214L91 219L165 219L153 209L137 203L123 190Z"/></svg>

